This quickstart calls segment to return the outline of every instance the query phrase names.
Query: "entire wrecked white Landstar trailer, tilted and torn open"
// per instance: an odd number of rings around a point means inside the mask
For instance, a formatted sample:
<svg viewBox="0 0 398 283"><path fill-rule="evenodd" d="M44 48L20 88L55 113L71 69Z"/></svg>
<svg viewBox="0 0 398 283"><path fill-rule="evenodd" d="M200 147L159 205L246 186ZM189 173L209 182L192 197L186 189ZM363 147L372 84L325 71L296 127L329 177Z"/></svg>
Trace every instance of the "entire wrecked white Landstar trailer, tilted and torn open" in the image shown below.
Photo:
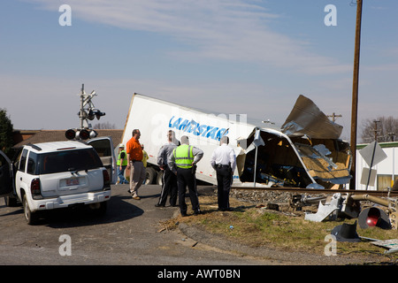
<svg viewBox="0 0 398 283"><path fill-rule="evenodd" d="M210 114L194 108L134 94L126 119L122 143L141 130L140 142L149 155L147 171L157 167L158 149L168 130L177 140L188 135L190 144L203 149L196 179L217 185L210 157L223 135L229 137L237 166L233 187L341 188L351 176L348 142L339 139L341 126L327 119L310 99L299 96L281 128L256 126L233 114ZM151 182L152 180L149 180Z"/></svg>

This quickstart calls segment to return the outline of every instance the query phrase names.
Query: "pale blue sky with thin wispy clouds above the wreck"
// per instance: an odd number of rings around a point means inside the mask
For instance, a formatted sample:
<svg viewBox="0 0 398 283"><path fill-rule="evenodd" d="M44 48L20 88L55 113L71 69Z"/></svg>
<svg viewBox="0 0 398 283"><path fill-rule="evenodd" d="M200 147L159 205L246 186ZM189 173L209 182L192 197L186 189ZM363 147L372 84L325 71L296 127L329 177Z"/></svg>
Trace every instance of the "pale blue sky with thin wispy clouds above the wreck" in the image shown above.
<svg viewBox="0 0 398 283"><path fill-rule="evenodd" d="M0 108L16 129L79 126L79 93L123 128L134 92L282 124L299 95L349 140L355 0L2 0ZM72 26L60 26L62 4ZM325 25L327 4L337 26ZM398 1L364 0L358 126L396 118ZM94 120L93 123L97 121Z"/></svg>

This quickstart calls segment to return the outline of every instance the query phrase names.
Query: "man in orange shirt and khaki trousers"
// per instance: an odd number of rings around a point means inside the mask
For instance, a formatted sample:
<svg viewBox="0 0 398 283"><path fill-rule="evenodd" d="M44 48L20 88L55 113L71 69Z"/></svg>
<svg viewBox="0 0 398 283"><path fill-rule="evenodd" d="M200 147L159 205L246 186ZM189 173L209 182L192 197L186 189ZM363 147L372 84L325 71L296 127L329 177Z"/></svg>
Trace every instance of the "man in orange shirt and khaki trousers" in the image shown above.
<svg viewBox="0 0 398 283"><path fill-rule="evenodd" d="M130 193L134 200L139 200L137 195L138 188L145 180L145 167L142 163L142 147L138 140L140 139L140 130L134 129L133 137L126 143L127 170L130 169Z"/></svg>

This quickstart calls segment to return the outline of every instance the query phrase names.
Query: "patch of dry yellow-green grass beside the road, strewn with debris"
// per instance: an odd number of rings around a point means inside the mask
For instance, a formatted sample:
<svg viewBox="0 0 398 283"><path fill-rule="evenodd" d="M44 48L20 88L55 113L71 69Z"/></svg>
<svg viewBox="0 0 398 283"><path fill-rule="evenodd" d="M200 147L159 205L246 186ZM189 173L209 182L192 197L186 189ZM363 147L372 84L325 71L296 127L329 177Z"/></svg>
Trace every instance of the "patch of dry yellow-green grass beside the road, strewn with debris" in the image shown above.
<svg viewBox="0 0 398 283"><path fill-rule="evenodd" d="M167 229L176 227L176 223L202 226L210 233L224 235L231 241L239 241L251 247L272 247L285 250L310 251L324 254L325 236L333 227L343 223L353 224L356 219L340 221L312 222L304 219L303 213L293 213L287 208L281 211L266 210L256 207L254 203L243 203L231 199L233 211L218 211L217 196L200 196L203 215L178 217L171 219L165 226ZM188 205L189 209L189 205ZM284 211L285 210L285 211ZM188 214L189 214L188 210ZM192 213L191 213L192 214ZM360 236L378 240L398 238L396 230L382 230L378 227L361 229L357 226ZM358 256L383 256L384 249L376 247L370 241L338 242L338 254ZM389 256L398 259L398 254Z"/></svg>

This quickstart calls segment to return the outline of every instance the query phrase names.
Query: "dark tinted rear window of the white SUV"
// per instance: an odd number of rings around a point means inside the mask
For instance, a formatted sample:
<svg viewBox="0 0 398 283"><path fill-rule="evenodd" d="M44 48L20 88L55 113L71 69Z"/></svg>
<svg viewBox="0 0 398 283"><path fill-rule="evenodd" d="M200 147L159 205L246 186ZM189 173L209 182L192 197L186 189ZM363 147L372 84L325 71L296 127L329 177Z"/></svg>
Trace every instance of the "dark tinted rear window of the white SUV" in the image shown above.
<svg viewBox="0 0 398 283"><path fill-rule="evenodd" d="M36 175L103 167L95 149L63 150L37 155Z"/></svg>

